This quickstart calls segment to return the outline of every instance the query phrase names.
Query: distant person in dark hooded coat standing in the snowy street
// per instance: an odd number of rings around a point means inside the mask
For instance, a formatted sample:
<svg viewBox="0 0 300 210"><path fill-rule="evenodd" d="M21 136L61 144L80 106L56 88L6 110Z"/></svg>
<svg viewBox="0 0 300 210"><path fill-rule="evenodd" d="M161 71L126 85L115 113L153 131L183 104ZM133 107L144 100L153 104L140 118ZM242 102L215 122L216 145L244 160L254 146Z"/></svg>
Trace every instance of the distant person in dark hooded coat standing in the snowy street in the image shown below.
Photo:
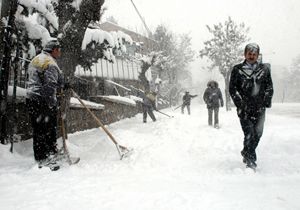
<svg viewBox="0 0 300 210"><path fill-rule="evenodd" d="M208 125L212 125L212 115L214 113L214 127L219 128L219 107L223 107L223 97L216 81L209 81L203 94L203 100L208 110Z"/></svg>

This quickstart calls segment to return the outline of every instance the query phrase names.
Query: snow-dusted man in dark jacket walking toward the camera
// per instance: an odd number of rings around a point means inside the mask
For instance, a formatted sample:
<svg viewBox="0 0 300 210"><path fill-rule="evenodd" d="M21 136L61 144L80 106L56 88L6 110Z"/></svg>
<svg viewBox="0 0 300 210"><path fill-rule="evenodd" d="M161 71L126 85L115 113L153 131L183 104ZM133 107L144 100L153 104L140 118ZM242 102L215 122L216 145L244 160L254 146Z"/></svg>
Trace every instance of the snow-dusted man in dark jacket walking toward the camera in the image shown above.
<svg viewBox="0 0 300 210"><path fill-rule="evenodd" d="M255 168L255 149L263 133L266 108L271 107L273 84L269 65L257 61L257 44L247 44L244 56L244 62L233 67L229 92L244 132L243 162Z"/></svg>

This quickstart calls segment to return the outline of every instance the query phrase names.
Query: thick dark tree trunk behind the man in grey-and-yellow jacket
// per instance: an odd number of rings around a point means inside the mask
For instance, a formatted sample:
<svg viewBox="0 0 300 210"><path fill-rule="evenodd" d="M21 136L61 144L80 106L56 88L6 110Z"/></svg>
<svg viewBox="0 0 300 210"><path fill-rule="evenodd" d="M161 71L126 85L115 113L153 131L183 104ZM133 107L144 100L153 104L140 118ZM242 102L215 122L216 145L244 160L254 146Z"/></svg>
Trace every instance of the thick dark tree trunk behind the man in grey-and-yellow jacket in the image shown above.
<svg viewBox="0 0 300 210"><path fill-rule="evenodd" d="M75 11L70 4L72 1L59 1L57 15L59 16L59 32L63 34L60 40L62 56L58 63L63 71L65 81L75 84L74 76L76 66L81 59L81 45L85 31L91 21L100 20L101 7L104 0L85 0L80 4L80 10ZM70 97L72 91L65 91L65 116L69 113ZM65 122L66 129L68 122Z"/></svg>

